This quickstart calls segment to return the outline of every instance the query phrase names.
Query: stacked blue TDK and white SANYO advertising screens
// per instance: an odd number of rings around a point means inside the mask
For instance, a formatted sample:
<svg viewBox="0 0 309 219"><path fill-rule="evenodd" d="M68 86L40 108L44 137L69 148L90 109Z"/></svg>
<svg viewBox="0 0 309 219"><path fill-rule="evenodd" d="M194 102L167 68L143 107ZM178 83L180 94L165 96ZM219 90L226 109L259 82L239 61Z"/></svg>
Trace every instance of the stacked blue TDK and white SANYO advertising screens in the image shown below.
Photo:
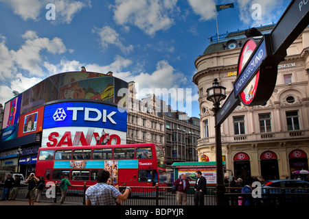
<svg viewBox="0 0 309 219"><path fill-rule="evenodd" d="M126 111L101 103L46 105L42 146L126 144L126 116Z"/></svg>

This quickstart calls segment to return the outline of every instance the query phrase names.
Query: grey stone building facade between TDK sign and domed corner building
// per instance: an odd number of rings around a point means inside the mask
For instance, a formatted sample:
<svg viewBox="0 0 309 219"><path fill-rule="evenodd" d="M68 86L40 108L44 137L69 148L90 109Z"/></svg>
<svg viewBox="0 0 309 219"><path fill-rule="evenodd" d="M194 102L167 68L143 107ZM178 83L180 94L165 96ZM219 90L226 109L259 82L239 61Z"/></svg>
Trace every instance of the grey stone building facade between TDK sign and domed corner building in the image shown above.
<svg viewBox="0 0 309 219"><path fill-rule="evenodd" d="M129 82L128 86L127 144L152 142L162 146L168 172L172 172L174 162L197 161L199 119L172 110L154 94L139 100L135 82Z"/></svg>

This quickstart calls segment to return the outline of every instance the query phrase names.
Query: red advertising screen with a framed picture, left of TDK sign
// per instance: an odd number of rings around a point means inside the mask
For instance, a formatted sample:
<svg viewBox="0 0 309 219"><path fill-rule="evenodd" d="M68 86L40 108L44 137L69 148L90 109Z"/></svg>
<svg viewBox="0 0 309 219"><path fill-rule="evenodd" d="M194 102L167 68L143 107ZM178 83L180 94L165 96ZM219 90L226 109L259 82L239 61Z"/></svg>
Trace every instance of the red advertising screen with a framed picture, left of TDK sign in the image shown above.
<svg viewBox="0 0 309 219"><path fill-rule="evenodd" d="M19 118L19 137L43 130L44 107L32 110Z"/></svg>

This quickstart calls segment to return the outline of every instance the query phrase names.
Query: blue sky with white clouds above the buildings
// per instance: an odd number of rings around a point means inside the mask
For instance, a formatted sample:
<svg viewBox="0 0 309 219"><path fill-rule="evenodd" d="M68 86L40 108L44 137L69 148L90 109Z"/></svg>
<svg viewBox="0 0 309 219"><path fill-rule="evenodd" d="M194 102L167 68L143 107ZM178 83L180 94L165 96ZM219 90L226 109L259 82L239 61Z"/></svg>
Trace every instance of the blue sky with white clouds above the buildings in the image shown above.
<svg viewBox="0 0 309 219"><path fill-rule="evenodd" d="M225 34L276 23L289 2L0 0L0 103L12 98L12 90L23 92L85 66L135 81L139 91L189 89L187 113L199 117L194 61L216 34L215 5L234 3L218 12L219 34ZM55 20L46 18L49 3L55 5Z"/></svg>

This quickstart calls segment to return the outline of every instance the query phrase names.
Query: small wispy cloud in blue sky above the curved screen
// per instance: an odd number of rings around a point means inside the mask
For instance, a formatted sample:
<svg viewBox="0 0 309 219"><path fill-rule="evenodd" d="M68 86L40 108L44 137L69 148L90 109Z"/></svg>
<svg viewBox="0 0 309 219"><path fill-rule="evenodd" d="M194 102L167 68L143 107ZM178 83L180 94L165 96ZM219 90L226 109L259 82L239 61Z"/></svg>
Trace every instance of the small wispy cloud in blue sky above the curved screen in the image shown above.
<svg viewBox="0 0 309 219"><path fill-rule="evenodd" d="M130 44L128 47L125 47L119 34L115 31L115 29L109 27L108 25L102 28L95 28L92 32L100 36L100 44L103 49L107 49L109 44L113 44L116 47L119 47L124 54L128 54L130 51L133 51L133 45Z"/></svg>

